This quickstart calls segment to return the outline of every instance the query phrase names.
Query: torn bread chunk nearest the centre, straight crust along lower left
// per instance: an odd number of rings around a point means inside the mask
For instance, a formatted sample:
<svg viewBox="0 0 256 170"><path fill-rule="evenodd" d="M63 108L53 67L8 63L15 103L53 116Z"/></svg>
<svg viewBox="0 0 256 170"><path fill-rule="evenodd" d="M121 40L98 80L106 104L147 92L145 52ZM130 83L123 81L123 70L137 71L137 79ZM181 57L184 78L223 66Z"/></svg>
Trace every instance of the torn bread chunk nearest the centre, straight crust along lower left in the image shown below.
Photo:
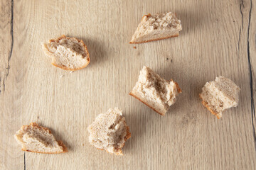
<svg viewBox="0 0 256 170"><path fill-rule="evenodd" d="M129 95L142 101L160 115L165 115L169 107L176 102L176 96L179 93L181 93L181 89L176 82L167 81L149 67L144 66Z"/></svg>

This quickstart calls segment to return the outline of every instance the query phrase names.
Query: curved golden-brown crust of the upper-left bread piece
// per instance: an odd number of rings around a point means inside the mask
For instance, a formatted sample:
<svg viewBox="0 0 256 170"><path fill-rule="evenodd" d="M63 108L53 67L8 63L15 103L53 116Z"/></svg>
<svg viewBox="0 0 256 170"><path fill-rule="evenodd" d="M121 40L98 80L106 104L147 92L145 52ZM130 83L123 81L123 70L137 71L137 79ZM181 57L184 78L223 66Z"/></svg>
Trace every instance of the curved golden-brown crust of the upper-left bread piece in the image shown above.
<svg viewBox="0 0 256 170"><path fill-rule="evenodd" d="M83 42L83 40L79 40L78 38L70 38L70 37L66 37L65 35L61 35L59 38L49 40L49 43L50 42L59 42L60 40L62 40L64 38L66 38L68 40L75 39L82 44L82 46L85 48L85 53L87 54L87 63L85 65L83 65L82 67L79 67L76 69L70 69L64 65L60 66L60 65L55 64L54 62L52 62L51 64L53 64L55 67L59 67L60 69L65 69L65 70L69 70L69 71L76 71L78 69L83 69L83 68L87 67L87 65L90 63L90 54L89 54L89 52L87 50L87 46L85 45L85 42Z"/></svg>

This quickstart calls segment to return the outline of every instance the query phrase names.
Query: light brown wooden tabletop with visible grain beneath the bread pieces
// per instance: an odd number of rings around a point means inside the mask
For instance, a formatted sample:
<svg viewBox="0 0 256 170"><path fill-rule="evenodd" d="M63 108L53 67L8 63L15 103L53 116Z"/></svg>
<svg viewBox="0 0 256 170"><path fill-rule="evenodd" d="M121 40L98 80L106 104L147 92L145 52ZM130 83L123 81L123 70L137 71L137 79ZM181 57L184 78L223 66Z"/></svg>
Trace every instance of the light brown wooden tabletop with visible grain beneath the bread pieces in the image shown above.
<svg viewBox="0 0 256 170"><path fill-rule="evenodd" d="M0 169L256 169L256 1L0 4ZM180 36L129 44L144 14L165 11L181 19ZM50 64L41 42L63 34L85 41L88 67L70 73ZM181 86L166 116L128 95L144 65ZM219 75L241 88L239 106L220 120L198 98ZM123 157L88 142L87 126L114 107L132 132ZM31 122L69 152L22 152L14 134Z"/></svg>

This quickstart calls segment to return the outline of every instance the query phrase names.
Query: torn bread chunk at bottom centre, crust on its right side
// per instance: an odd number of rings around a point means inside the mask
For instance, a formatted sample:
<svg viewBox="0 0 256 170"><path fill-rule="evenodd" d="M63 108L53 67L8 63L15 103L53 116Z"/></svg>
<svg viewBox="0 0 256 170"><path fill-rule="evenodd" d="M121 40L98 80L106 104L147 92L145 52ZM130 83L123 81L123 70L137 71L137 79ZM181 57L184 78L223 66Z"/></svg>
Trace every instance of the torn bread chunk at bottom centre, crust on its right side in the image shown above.
<svg viewBox="0 0 256 170"><path fill-rule="evenodd" d="M118 108L110 108L107 113L98 115L87 130L90 133L91 145L117 155L123 155L122 147L124 147L125 141L131 137L122 111Z"/></svg>

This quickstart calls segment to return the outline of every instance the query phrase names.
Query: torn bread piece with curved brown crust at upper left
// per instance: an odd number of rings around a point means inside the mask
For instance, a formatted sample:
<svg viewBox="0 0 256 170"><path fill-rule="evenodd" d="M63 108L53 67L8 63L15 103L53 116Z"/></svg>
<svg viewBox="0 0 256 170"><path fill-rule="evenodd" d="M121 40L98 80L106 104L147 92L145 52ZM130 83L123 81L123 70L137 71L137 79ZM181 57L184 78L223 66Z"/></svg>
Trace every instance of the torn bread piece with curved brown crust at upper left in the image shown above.
<svg viewBox="0 0 256 170"><path fill-rule="evenodd" d="M85 43L77 38L60 38L43 44L43 50L51 58L52 64L60 69L75 71L87 67L90 62Z"/></svg>

